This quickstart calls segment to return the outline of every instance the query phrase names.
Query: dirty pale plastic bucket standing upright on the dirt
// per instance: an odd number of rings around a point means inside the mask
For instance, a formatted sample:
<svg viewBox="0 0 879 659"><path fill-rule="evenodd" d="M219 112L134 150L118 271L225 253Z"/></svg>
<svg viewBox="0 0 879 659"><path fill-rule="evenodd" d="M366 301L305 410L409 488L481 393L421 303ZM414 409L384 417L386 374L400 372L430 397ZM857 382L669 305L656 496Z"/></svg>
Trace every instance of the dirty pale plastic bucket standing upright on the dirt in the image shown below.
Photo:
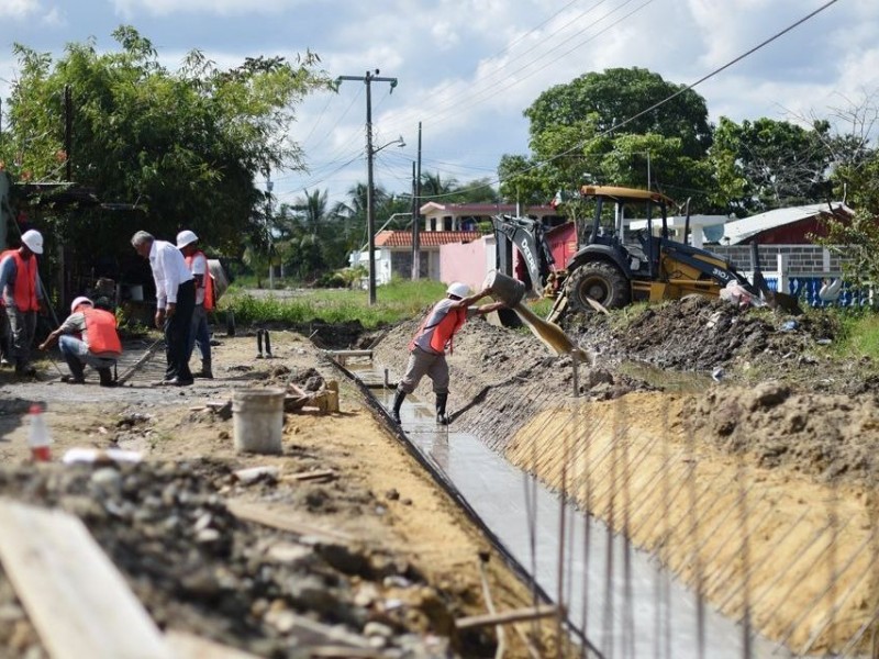
<svg viewBox="0 0 879 659"><path fill-rule="evenodd" d="M235 391L232 394L232 423L237 453L281 453L283 390Z"/></svg>

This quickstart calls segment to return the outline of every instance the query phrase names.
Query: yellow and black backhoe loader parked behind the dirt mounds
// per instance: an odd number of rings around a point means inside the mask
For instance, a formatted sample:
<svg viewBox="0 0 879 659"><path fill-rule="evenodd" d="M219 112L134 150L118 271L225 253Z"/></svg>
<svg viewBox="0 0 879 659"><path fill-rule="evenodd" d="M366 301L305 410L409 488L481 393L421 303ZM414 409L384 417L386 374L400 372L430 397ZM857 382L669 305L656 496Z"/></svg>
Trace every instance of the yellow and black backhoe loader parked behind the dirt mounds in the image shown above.
<svg viewBox="0 0 879 659"><path fill-rule="evenodd" d="M752 283L722 256L688 245L686 237L675 241L668 227L668 209L674 202L664 194L610 186L583 186L580 192L594 202L594 213L580 227L580 248L565 269L555 269L539 221L494 217L498 269L514 275L515 247L534 291L539 294L553 289L556 302L547 320L558 320L568 308L589 312L619 309L636 300L677 300L691 293L717 297L731 282L770 306L799 311L793 298L769 290L759 268ZM628 230L628 219L644 217L646 228ZM659 223L658 235L654 235L654 223ZM689 214L685 236L688 233Z"/></svg>

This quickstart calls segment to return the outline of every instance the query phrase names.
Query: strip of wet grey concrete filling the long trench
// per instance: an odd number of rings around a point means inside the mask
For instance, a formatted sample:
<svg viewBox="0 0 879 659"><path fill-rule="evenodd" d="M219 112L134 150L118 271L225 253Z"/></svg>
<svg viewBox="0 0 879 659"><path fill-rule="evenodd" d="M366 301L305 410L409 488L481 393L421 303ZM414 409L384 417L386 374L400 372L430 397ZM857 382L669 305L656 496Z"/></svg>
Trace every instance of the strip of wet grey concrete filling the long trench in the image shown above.
<svg viewBox="0 0 879 659"><path fill-rule="evenodd" d="M375 395L390 407L391 390ZM401 417L413 445L604 657L791 656L711 610L649 555L561 502L478 438L455 432L454 424L437 426L433 401L408 396Z"/></svg>

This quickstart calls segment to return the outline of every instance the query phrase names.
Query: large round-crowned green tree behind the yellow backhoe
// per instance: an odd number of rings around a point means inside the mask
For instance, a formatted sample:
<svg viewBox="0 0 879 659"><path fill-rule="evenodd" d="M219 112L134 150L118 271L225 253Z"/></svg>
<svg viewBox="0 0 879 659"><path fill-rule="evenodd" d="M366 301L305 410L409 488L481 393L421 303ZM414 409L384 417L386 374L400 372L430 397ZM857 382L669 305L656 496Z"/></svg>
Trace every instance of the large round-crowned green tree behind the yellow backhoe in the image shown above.
<svg viewBox="0 0 879 659"><path fill-rule="evenodd" d="M649 186L692 197L694 210L710 206L709 170L701 163L712 127L704 99L691 89L646 69L613 68L544 91L524 114L532 156L504 156L499 168L510 201L546 202L561 191L563 209L577 216L577 192L592 181Z"/></svg>

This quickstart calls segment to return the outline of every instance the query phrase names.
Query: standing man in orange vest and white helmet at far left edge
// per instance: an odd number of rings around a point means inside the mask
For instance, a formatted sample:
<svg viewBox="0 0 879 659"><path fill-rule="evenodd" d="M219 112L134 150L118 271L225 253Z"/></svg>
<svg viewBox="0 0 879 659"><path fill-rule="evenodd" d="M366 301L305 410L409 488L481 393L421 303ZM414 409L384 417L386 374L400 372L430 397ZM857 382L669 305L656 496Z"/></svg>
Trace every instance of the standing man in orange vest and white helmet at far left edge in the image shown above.
<svg viewBox="0 0 879 659"><path fill-rule="evenodd" d="M43 235L33 228L22 234L21 247L0 254L0 291L9 317L12 358L19 377L36 375L31 366L31 345L36 331L36 313L43 300L36 263L40 254L43 254Z"/></svg>

